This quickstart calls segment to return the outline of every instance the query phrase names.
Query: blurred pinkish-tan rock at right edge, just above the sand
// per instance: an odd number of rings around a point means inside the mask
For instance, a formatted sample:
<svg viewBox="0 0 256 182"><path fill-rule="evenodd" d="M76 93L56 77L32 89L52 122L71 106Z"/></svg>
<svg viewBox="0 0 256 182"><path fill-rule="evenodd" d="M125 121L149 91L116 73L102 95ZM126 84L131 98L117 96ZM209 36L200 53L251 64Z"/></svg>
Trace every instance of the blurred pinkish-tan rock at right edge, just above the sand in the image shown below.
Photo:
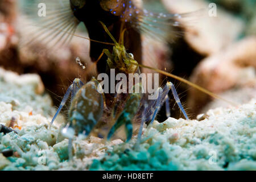
<svg viewBox="0 0 256 182"><path fill-rule="evenodd" d="M256 88L255 47L256 37L251 36L207 57L193 71L190 80L218 94L234 89L225 94L226 100L237 101L239 104L249 101L256 96L251 94L255 93ZM239 99L236 100L236 97ZM188 106L195 108L195 111L199 111L208 100L209 96L195 89L189 90Z"/></svg>

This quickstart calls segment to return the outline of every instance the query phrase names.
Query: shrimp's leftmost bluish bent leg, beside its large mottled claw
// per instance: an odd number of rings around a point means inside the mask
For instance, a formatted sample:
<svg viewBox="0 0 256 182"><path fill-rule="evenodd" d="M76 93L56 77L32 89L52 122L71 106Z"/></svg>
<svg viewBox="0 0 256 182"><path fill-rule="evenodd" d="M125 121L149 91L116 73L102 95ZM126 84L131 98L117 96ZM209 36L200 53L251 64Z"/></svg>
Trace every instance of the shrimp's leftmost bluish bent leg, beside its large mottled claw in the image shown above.
<svg viewBox="0 0 256 182"><path fill-rule="evenodd" d="M63 97L63 100L61 101L60 106L56 111L56 114L52 118L52 121L51 121L50 125L53 124L57 115L60 113L61 109L63 108L63 106L67 102L69 95L71 94L71 100L73 100L73 97L76 95L77 90L79 90L79 88L81 88L82 85L84 85L84 83L79 78L75 78L75 80L73 81L73 84L68 87L68 90L65 93L65 95Z"/></svg>

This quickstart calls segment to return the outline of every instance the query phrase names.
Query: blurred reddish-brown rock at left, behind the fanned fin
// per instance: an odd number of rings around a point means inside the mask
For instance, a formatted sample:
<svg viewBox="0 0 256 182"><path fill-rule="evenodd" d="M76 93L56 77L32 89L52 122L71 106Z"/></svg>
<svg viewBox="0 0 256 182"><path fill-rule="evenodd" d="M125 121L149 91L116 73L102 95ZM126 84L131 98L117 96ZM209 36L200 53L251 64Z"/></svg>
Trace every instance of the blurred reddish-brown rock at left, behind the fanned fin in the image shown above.
<svg viewBox="0 0 256 182"><path fill-rule="evenodd" d="M5 10L4 13L0 9L0 65L2 67L20 74L38 73L47 89L51 90L51 94L57 96L64 94L63 87L71 84L74 78L82 77L86 80L85 76L89 71L82 70L76 63L76 58L79 57L82 64L89 67L88 40L74 36L69 45L58 49L49 48L40 43L34 44L33 47L20 44L21 38L24 40L31 36L24 33L24 27L31 22L23 16L17 18L11 13L14 10L17 12L16 1L5 0L0 4L4 2L6 4L1 6ZM13 6L7 9L10 2ZM80 35L86 37L86 34ZM55 100L56 104L57 102Z"/></svg>

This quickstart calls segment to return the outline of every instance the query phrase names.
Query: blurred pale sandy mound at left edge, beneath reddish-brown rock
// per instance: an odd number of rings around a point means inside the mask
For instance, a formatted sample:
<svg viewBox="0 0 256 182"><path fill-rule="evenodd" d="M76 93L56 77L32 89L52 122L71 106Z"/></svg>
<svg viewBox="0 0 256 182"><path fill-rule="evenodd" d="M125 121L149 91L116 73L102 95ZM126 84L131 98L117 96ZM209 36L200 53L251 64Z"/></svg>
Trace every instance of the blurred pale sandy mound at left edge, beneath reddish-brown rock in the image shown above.
<svg viewBox="0 0 256 182"><path fill-rule="evenodd" d="M6 111L6 115L2 113L0 116L1 122L6 119L10 121L13 116L15 117L15 112L13 115L10 114L11 110L31 113L31 115L55 114L52 100L45 93L43 82L36 74L18 75L0 67L0 102L5 103L0 110Z"/></svg>

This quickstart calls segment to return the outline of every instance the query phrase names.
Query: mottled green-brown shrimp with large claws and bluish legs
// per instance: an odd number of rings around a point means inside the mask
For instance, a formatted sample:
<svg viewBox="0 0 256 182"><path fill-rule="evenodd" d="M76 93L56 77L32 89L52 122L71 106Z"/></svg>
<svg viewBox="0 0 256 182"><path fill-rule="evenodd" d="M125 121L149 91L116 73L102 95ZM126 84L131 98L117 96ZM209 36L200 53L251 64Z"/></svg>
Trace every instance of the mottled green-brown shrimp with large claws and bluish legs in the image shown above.
<svg viewBox="0 0 256 182"><path fill-rule="evenodd" d="M115 43L112 53L110 53L108 49L104 49L102 52L102 54L105 53L108 56L108 67L110 69L117 69L118 72L124 72L126 74L138 72L139 64L133 59L132 55L126 52L126 49L123 46L123 37L121 38L121 44L117 43L105 24L102 22L101 24ZM135 86L139 86L141 88L140 90L143 90L141 82L138 82L137 84L134 85L133 90ZM88 136L95 128L97 128L97 126L101 126L101 118L104 117L105 114L108 114L104 113L104 107L107 105L106 100L104 100L105 94L99 92L98 86L99 83L96 80L92 80L86 84L83 84L80 79L76 78L73 81L73 84L69 86L63 101L61 101L59 109L52 119L51 123L53 123L57 114L59 114L60 110L65 105L65 102L71 94L71 107L69 108L68 123L64 128L64 135L69 138L70 158L72 156L73 135L83 134ZM160 107L164 102L168 102L168 92L170 89L172 90L174 98L181 111L185 115L185 118L188 119L187 114L180 104L180 100L177 96L174 85L171 82L168 82L163 89L158 88L158 97L155 100L151 100L150 102L144 99L142 93L124 94L124 97L120 97L121 101L125 102L125 104L121 105L121 107L123 106L121 109L118 107L118 102L116 102L117 98L119 97L117 97L115 94L113 99L114 106L108 108L110 109L111 115L110 122L108 122L110 125L108 127L108 135L104 137L109 140L115 131L124 125L126 131L126 141L129 141L133 135L133 120L135 116L142 114L140 119L141 128L139 130L139 141L142 135L143 123L147 122L148 119L151 119L150 123L154 121ZM111 121L114 121L114 123Z"/></svg>

